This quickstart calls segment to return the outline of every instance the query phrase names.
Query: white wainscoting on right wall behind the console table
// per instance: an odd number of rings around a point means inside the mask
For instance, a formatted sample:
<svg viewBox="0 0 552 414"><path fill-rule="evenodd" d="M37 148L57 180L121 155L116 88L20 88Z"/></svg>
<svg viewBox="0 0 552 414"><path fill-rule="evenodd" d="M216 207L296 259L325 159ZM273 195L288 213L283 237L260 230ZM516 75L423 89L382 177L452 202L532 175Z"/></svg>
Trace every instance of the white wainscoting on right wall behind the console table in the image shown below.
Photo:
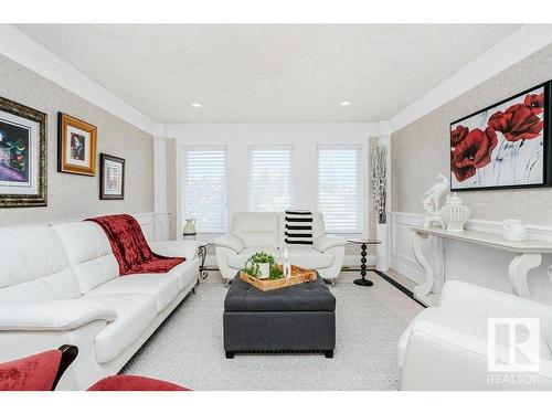
<svg viewBox="0 0 552 414"><path fill-rule="evenodd" d="M417 264L412 250L411 226L423 225L424 215L393 212L391 214L391 267L415 283L424 279L424 272ZM501 222L470 220L469 230L500 233ZM552 227L528 225L530 238L552 240ZM429 237L424 242L424 254L432 263L435 275L434 291L439 293L446 280L463 280L491 289L511 293L508 282L508 266L513 254L496 248ZM552 304L552 279L548 268L552 255L544 255L542 265L529 273L529 284L534 297Z"/></svg>

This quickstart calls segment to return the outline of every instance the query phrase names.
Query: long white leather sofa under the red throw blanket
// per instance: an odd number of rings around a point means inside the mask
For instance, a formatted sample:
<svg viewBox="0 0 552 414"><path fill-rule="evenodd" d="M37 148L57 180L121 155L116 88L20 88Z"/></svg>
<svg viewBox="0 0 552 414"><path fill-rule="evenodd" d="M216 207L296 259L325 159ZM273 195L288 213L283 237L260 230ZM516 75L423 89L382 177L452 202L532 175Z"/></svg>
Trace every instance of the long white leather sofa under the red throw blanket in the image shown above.
<svg viewBox="0 0 552 414"><path fill-rule="evenodd" d="M78 357L59 389L117 373L198 280L198 243L150 246L187 261L167 274L119 277L96 223L0 229L0 361L71 343Z"/></svg>

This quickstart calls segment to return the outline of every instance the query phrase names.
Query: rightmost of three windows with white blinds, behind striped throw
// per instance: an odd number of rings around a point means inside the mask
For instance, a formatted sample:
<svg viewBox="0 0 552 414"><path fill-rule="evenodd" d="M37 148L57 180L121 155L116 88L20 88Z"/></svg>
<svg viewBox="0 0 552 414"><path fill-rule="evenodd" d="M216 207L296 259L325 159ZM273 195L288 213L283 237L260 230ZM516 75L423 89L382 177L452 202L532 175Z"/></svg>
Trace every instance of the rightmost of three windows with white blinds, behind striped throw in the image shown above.
<svg viewBox="0 0 552 414"><path fill-rule="evenodd" d="M318 211L328 232L362 233L360 159L360 148L318 149Z"/></svg>

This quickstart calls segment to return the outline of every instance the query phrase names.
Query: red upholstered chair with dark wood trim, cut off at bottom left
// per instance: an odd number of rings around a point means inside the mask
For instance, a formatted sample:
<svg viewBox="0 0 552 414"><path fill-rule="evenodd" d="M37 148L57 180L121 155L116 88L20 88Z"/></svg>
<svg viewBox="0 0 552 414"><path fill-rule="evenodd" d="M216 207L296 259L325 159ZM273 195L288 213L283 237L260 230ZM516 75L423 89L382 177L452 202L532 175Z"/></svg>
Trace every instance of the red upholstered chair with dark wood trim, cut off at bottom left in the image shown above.
<svg viewBox="0 0 552 414"><path fill-rule="evenodd" d="M75 346L41 352L0 363L0 391L54 391L65 370L78 354ZM113 375L87 391L191 391L171 382L139 375Z"/></svg>

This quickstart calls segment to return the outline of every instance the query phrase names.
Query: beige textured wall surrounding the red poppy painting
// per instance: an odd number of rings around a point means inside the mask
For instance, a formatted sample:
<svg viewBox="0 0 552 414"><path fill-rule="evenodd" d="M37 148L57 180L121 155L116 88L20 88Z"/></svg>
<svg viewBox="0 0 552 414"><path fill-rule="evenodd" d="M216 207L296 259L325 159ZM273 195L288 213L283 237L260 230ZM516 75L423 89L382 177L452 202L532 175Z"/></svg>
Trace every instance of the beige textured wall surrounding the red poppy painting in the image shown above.
<svg viewBox="0 0 552 414"><path fill-rule="evenodd" d="M449 173L450 121L552 78L552 45L443 105L392 136L393 204L423 213L422 194L438 172ZM492 190L459 194L473 219L520 219L552 225L552 189Z"/></svg>

